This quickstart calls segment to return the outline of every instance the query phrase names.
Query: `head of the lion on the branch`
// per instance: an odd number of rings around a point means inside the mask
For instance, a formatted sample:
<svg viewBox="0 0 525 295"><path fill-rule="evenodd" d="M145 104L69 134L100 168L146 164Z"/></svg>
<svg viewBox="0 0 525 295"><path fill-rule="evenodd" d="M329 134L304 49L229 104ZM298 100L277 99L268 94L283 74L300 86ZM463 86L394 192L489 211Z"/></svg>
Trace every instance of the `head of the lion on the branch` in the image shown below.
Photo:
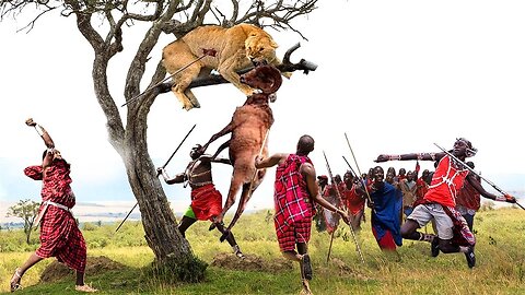
<svg viewBox="0 0 525 295"><path fill-rule="evenodd" d="M276 57L277 43L264 32L252 32L244 43L246 57L254 63L271 63Z"/></svg>

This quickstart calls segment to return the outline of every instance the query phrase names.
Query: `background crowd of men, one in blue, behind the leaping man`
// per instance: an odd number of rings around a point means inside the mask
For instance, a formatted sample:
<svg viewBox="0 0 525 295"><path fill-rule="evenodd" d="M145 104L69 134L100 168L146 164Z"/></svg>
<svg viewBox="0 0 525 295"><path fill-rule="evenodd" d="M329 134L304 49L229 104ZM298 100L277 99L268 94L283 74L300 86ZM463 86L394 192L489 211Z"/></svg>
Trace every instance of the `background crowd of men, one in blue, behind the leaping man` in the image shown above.
<svg viewBox="0 0 525 295"><path fill-rule="evenodd" d="M436 158L434 168L438 167L439 163ZM472 169L475 168L470 161L465 164ZM416 220L416 215L409 216L418 204L425 202L424 196L432 184L434 172L424 169L421 176L419 176L419 172L420 165L419 160L417 160L413 170L407 172L406 168L400 168L396 174L394 167L388 167L385 174L381 166L376 166L370 168L368 174L360 177L357 177L352 170L347 170L342 179L339 174L335 175L331 184L329 184L328 176L320 175L317 176L317 185L325 199L346 209L350 225L355 233L361 231L362 223L366 221L365 208L370 206L372 209L371 228L377 245L382 250L396 251L397 246L401 246L401 224ZM489 199L494 197L485 191L478 175L474 175L474 181L479 184L478 188L472 186L470 181L464 181L454 199L455 210L465 219L470 232L472 232L474 216L481 205L481 192ZM387 185L385 186L385 184ZM363 189L364 187L366 187L366 190ZM513 202L514 199L509 198L504 201ZM328 234L332 234L339 224L337 215L322 208L317 208L314 221L319 233L326 231ZM430 222L435 235L438 233L436 222L434 219L431 219ZM427 233L427 225L424 225L424 228ZM438 256L439 238L434 239L432 236L425 236L424 238L434 243L433 256ZM446 246L444 248L446 251ZM474 263L470 262L469 267L474 267Z"/></svg>

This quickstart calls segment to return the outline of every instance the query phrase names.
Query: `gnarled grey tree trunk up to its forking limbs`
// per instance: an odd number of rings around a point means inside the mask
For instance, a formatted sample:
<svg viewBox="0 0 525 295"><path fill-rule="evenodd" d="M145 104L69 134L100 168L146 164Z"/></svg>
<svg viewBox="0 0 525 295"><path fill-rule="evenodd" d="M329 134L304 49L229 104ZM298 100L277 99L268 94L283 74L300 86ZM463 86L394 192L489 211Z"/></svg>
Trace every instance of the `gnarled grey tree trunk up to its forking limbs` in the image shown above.
<svg viewBox="0 0 525 295"><path fill-rule="evenodd" d="M188 241L180 235L167 198L156 177L154 165L148 153L147 121L154 97L143 97L140 103L128 106L127 125L124 129L118 107L113 99L106 76L109 58L96 52L93 63L93 82L96 98L106 118L109 142L122 158L128 181L139 203L145 240L158 262L191 261L194 253ZM165 72L160 71L162 75ZM138 71L128 78L140 81ZM138 94L138 82L129 83L126 97ZM135 87L133 87L135 86ZM200 275L200 274L199 274Z"/></svg>

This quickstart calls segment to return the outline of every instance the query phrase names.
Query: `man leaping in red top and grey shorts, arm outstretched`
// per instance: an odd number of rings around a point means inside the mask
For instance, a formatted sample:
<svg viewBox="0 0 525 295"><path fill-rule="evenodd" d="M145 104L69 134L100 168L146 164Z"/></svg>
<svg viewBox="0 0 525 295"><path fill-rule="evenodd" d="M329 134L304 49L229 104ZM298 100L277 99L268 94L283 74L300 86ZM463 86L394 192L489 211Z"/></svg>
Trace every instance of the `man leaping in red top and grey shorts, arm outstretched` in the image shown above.
<svg viewBox="0 0 525 295"><path fill-rule="evenodd" d="M386 161L439 161L432 182L423 199L419 200L413 212L407 217L401 227L401 236L406 239L425 240L432 244L432 256L436 257L440 250L444 253L464 252L469 268L476 266L474 246L475 237L467 226L465 219L455 210L457 192L465 179L481 196L497 201L515 203L516 199L508 193L495 196L486 191L476 181L475 173L465 164L465 158L477 152L470 141L459 138L452 151L442 150L441 153L413 153L402 155L380 155L375 162ZM432 219L435 220L438 236L417 232Z"/></svg>

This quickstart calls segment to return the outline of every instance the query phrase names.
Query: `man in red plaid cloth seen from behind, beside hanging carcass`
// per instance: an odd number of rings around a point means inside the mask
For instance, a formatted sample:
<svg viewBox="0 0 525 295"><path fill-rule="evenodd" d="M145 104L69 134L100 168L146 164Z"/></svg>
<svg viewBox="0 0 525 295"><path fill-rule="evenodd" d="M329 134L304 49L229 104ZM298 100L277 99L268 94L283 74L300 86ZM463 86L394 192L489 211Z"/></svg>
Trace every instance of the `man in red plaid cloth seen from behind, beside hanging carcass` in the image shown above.
<svg viewBox="0 0 525 295"><path fill-rule="evenodd" d="M346 223L349 222L345 211L334 206L319 194L315 181L315 168L308 157L314 150L314 139L302 135L299 139L295 154L278 153L255 158L255 167L268 168L277 166L273 201L277 239L284 258L298 261L301 269L303 293L311 294L312 264L310 261L308 241L312 231L314 202L337 212Z"/></svg>

